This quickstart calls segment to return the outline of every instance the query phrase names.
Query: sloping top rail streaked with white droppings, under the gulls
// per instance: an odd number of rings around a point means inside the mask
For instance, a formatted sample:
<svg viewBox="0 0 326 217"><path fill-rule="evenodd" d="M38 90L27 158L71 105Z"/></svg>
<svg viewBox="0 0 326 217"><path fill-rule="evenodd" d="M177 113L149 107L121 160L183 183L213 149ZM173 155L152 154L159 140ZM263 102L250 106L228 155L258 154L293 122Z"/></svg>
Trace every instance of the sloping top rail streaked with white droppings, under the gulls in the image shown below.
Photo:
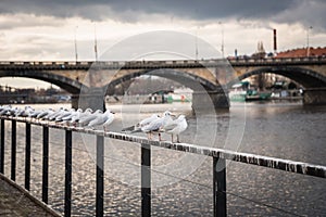
<svg viewBox="0 0 326 217"><path fill-rule="evenodd" d="M322 165L314 165L314 164L309 164L303 162L268 157L268 156L256 155L256 154L241 153L241 152L235 152L235 151L223 150L217 148L200 146L200 145L189 144L189 143L152 141L152 140L148 140L145 137L130 136L121 132L104 132L103 130L92 130L92 129L82 128L82 127L64 126L64 125L59 125L55 123L48 123L48 122L35 122L32 119L25 120L25 118L22 117L0 116L0 119L30 123L33 125L39 125L49 128L57 128L63 130L71 130L75 132L102 136L106 138L116 139L116 140L137 142L143 145L159 146L159 148L200 154L205 156L213 156L213 157L218 157L218 158L224 158L224 159L229 159L234 162L256 165L256 166L262 166L262 167L267 167L273 169L280 169L280 170L296 173L296 174L326 178L326 166L322 166Z"/></svg>

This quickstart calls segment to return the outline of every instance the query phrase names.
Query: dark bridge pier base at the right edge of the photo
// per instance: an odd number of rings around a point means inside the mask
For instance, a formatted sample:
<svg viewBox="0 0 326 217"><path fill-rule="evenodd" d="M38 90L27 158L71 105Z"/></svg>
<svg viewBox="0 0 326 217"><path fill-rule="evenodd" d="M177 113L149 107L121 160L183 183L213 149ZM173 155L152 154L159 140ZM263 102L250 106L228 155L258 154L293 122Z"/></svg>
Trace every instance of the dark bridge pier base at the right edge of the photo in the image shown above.
<svg viewBox="0 0 326 217"><path fill-rule="evenodd" d="M303 92L304 105L326 105L326 88L309 88Z"/></svg>

